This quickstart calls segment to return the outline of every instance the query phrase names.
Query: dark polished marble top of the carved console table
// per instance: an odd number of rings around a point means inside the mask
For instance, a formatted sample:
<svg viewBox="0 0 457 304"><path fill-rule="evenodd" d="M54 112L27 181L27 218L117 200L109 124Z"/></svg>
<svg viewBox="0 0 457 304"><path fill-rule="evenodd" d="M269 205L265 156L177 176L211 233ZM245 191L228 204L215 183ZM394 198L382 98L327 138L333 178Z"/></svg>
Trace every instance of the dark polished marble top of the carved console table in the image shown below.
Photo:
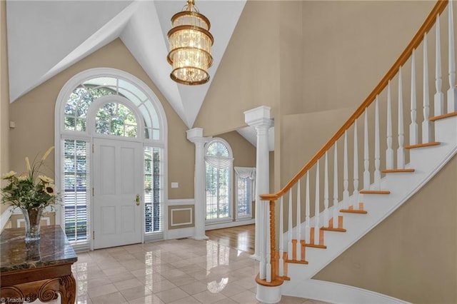
<svg viewBox="0 0 457 304"><path fill-rule="evenodd" d="M40 240L26 243L25 228L4 229L0 235L0 272L78 260L61 226L41 226L40 234Z"/></svg>

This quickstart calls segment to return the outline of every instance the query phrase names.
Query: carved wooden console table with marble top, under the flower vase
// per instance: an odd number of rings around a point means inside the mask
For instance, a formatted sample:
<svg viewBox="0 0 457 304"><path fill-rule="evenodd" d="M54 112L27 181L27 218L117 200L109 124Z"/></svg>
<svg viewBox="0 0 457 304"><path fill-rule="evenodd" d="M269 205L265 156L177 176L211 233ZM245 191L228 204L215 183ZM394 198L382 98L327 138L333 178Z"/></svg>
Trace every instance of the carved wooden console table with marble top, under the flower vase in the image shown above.
<svg viewBox="0 0 457 304"><path fill-rule="evenodd" d="M78 260L60 226L42 226L41 239L26 243L24 228L0 235L0 303L41 302L61 295L74 304L76 281L71 265Z"/></svg>

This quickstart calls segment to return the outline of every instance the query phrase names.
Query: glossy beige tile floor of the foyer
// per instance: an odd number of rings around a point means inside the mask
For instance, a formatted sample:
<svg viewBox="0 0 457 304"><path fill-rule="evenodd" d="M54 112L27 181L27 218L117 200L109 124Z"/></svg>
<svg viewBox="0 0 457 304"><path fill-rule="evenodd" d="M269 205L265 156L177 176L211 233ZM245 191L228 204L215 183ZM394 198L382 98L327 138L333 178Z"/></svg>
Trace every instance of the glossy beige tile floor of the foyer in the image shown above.
<svg viewBox="0 0 457 304"><path fill-rule="evenodd" d="M212 240L166 240L78 253L77 303L259 303L258 262ZM319 303L283 296L281 303Z"/></svg>

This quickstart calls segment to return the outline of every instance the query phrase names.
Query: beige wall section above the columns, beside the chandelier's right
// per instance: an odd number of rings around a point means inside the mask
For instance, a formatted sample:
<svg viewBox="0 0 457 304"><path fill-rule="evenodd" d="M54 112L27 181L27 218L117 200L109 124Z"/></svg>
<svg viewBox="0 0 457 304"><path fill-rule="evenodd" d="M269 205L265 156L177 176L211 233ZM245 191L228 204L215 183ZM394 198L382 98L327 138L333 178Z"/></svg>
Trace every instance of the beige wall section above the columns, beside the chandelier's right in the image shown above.
<svg viewBox="0 0 457 304"><path fill-rule="evenodd" d="M279 102L277 1L247 1L194 126L205 136L243 126L244 111ZM217 39L217 38L216 38Z"/></svg>

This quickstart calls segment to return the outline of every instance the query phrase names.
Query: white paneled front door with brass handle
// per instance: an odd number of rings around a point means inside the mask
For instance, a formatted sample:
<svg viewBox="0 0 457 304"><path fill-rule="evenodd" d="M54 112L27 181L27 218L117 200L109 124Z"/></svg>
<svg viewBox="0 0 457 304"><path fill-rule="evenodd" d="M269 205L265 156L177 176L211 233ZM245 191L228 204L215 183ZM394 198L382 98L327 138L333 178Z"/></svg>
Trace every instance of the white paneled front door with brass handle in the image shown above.
<svg viewBox="0 0 457 304"><path fill-rule="evenodd" d="M94 249L141 243L143 144L94 138Z"/></svg>

